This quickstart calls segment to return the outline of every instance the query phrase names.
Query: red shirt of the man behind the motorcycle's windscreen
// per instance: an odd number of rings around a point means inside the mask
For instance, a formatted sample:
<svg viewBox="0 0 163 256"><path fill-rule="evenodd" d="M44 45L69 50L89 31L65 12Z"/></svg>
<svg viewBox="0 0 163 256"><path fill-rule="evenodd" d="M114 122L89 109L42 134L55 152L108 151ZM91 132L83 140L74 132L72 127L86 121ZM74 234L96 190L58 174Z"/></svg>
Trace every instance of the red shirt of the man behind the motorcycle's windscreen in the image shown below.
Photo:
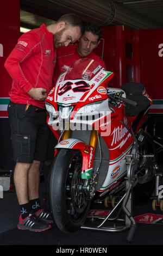
<svg viewBox="0 0 163 256"><path fill-rule="evenodd" d="M91 52L89 56L81 57L77 51L77 48L78 48L78 45L68 45L67 47L58 48L57 62L55 66L54 80L53 80L54 86L57 82L59 75L65 72L73 62L81 58L94 59L97 62L99 62L99 64L101 64L104 67L104 69L106 69L105 63L103 62L103 60L99 58L95 53Z"/></svg>

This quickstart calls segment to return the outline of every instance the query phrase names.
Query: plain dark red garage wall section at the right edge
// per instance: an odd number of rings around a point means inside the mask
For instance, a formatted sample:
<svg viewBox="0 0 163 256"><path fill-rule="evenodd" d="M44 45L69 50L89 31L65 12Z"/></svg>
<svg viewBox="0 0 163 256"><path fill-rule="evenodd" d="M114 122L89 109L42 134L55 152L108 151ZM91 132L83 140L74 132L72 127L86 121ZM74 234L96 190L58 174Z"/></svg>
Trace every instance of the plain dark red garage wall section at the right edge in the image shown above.
<svg viewBox="0 0 163 256"><path fill-rule="evenodd" d="M140 35L140 75L152 96L151 113L163 114L163 29L145 29Z"/></svg>

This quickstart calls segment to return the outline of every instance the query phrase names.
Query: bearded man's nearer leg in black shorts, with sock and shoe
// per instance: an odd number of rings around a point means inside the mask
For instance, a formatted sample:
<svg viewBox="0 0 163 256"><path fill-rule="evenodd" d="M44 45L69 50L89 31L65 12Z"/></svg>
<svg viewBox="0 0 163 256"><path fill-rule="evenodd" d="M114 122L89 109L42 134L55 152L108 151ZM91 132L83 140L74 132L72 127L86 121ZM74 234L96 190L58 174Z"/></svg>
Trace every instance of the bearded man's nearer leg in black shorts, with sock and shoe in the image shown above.
<svg viewBox="0 0 163 256"><path fill-rule="evenodd" d="M21 208L21 215L18 220L18 229L26 229L31 231L43 231L51 228L51 225L32 214L29 203L29 180L30 167L35 151L35 139L37 136L38 120L35 108L30 106L26 111L26 105L15 104L10 102L8 106L8 114L11 126L11 139L13 148L13 160L16 162L14 170L14 182L18 203ZM38 172L36 172L38 173ZM38 180L35 182L35 188L32 192L38 193ZM35 191L35 192L34 192ZM31 192L30 192L31 193Z"/></svg>

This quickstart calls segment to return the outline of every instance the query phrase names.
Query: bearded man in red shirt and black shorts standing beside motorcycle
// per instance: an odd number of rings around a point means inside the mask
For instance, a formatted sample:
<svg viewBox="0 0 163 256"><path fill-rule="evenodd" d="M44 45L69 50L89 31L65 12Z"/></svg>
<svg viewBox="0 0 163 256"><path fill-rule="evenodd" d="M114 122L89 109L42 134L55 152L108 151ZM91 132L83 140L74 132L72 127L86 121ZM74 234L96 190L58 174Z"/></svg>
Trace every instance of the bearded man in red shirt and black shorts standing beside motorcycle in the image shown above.
<svg viewBox="0 0 163 256"><path fill-rule="evenodd" d="M21 209L18 229L51 228L52 219L39 199L40 163L46 160L49 136L45 99L53 86L57 48L78 40L82 29L77 15L63 15L48 27L42 25L23 34L5 62L12 78L8 115Z"/></svg>

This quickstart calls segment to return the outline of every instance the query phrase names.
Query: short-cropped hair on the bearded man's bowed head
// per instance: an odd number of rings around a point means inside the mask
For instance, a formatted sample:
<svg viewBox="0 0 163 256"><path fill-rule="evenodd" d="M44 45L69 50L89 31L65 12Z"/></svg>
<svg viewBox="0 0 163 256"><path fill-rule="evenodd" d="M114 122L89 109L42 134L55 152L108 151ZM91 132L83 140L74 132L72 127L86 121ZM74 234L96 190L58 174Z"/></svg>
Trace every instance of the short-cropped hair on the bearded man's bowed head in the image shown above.
<svg viewBox="0 0 163 256"><path fill-rule="evenodd" d="M81 33L83 34L83 23L80 17L76 14L64 14L62 15L58 20L57 23L64 21L67 25L67 28L69 27L79 27L81 30Z"/></svg>

